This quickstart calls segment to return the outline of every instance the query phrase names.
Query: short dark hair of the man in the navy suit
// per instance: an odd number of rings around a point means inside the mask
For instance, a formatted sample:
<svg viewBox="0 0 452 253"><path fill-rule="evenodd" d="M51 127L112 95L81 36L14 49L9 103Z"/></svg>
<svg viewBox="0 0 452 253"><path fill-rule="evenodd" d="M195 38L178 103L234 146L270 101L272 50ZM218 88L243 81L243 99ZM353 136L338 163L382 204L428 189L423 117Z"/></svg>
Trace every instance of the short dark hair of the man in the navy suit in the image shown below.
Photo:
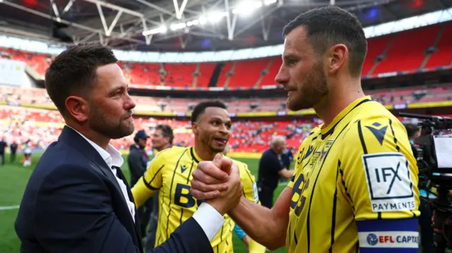
<svg viewBox="0 0 452 253"><path fill-rule="evenodd" d="M50 99L62 115L66 113L66 99L81 95L96 83L100 66L117 63L113 51L101 44L78 44L62 51L47 68L45 87Z"/></svg>

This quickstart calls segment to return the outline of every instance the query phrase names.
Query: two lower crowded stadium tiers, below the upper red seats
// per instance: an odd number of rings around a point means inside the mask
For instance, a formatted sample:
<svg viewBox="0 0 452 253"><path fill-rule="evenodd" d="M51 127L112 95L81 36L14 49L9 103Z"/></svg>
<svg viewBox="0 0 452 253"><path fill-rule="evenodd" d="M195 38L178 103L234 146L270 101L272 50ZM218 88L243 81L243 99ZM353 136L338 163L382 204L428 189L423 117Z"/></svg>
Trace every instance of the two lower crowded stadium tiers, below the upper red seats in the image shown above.
<svg viewBox="0 0 452 253"><path fill-rule="evenodd" d="M2 131L6 141L19 143L30 139L33 147L45 149L48 144L57 140L64 124L63 118L52 108L52 101L44 89L9 87L0 85L2 94L0 102L7 104L0 107ZM422 87L406 87L389 90L374 90L367 94L383 104L410 104L432 101L448 101L452 99L452 84L428 85ZM187 104L205 99L175 99L133 97L136 101L136 111L168 111L189 112ZM283 98L275 99L228 99L228 110L232 113L246 111L280 111ZM250 104L260 104L257 109L250 109ZM21 105L16 106L16 105ZM160 104L167 104L162 110ZM26 108L22 106L34 106ZM42 109L44 108L44 109ZM174 143L190 145L193 135L189 121L175 119L157 120L136 116L136 129L153 130L156 124L165 123L174 128ZM296 149L310 130L321 121L299 119L297 121L237 121L232 127L230 146L234 152L262 152L270 143L273 135L287 136L289 147ZM131 135L132 136L132 135ZM132 137L113 140L112 144L120 150L125 150L133 142Z"/></svg>

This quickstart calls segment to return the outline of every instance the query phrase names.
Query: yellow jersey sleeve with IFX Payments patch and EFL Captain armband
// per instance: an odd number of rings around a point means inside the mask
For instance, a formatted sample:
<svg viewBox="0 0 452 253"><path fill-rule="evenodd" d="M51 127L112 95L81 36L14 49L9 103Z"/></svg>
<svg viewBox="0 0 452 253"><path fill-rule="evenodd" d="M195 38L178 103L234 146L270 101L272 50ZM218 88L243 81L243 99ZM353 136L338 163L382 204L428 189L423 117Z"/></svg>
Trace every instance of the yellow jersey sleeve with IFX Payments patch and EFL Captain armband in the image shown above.
<svg viewBox="0 0 452 253"><path fill-rule="evenodd" d="M355 213L361 252L415 251L418 169L403 124L386 115L364 118L338 141L338 185Z"/></svg>

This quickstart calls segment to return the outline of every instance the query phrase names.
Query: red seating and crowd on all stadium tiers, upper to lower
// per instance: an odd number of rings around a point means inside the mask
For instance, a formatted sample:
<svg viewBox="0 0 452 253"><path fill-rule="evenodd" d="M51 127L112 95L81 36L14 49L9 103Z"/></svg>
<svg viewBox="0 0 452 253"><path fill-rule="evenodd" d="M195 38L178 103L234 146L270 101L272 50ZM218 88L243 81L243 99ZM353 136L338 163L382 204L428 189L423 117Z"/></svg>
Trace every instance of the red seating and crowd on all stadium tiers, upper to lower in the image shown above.
<svg viewBox="0 0 452 253"><path fill-rule="evenodd" d="M413 39L417 43L406 43ZM436 68L452 64L452 23L441 23L417 30L399 32L369 39L369 52L363 67L363 76L379 75L400 71L416 71L420 68ZM0 48L0 58L10 58L27 63L27 71L43 76L50 55ZM208 87L211 76L219 63L124 63L123 68L131 84L143 88L163 85L169 87ZM275 85L273 80L281 64L280 57L230 61L222 65L216 87L258 88ZM30 74L30 73L29 73ZM32 75L33 76L33 75ZM210 83L210 84L209 84ZM63 127L63 119L53 108L53 103L44 89L9 87L0 85L0 137L6 142L25 143L45 149L57 140ZM411 104L452 99L452 84L406 87L389 90L366 91L382 104ZM136 112L186 113L194 103L203 99L177 99L133 97ZM285 98L273 99L226 99L230 113L287 111ZM20 107L19 107L20 106ZM40 107L41 109L32 109ZM25 109L26 108L26 109ZM44 108L44 109L42 109ZM139 113L137 113L139 115ZM193 136L189 121L157 120L154 118L134 119L136 130L152 132L158 123L174 128L174 144L191 145ZM288 145L297 148L310 130L319 121L237 121L232 127L230 147L232 151L261 152L268 147L273 135L285 135ZM118 149L128 149L131 137L114 140Z"/></svg>

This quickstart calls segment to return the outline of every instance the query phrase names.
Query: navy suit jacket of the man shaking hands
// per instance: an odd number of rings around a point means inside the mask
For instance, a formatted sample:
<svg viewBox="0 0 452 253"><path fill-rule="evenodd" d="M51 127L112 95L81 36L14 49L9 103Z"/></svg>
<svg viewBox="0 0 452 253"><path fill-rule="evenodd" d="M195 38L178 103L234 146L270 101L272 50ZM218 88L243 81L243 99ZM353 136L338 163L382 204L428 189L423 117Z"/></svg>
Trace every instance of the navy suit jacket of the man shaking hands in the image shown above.
<svg viewBox="0 0 452 253"><path fill-rule="evenodd" d="M118 174L127 185L124 175ZM67 126L42 155L16 218L20 252L143 252L132 216L107 163ZM213 252L201 226L189 218L155 253Z"/></svg>

